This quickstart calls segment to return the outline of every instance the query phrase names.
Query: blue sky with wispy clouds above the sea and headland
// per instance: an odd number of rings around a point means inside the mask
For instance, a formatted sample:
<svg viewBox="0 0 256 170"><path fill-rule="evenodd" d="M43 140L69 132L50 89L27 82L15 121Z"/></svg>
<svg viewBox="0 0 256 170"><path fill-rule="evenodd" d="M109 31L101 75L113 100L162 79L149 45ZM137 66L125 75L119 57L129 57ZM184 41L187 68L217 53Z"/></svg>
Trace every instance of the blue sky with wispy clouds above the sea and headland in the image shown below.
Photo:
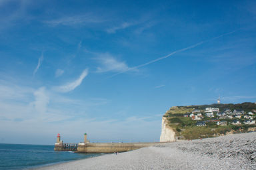
<svg viewBox="0 0 256 170"><path fill-rule="evenodd" d="M256 102L255 7L0 0L0 143L157 141L171 106Z"/></svg>

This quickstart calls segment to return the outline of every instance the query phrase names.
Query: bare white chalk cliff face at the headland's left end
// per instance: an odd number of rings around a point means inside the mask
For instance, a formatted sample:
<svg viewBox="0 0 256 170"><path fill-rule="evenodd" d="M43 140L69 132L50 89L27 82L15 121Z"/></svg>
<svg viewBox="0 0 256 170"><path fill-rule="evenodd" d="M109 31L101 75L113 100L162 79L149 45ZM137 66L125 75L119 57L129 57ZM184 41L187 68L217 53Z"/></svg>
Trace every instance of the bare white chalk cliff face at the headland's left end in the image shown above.
<svg viewBox="0 0 256 170"><path fill-rule="evenodd" d="M161 130L161 136L160 141L176 141L175 139L175 131L171 127L168 126L168 120L167 118L162 118L162 130Z"/></svg>

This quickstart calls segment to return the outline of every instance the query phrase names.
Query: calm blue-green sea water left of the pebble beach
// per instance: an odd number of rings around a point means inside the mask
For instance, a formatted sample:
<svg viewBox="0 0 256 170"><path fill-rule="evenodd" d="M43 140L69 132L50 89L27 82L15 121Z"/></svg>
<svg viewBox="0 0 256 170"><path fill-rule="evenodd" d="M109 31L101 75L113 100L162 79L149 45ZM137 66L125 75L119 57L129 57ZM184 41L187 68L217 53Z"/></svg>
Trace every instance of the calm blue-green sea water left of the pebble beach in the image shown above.
<svg viewBox="0 0 256 170"><path fill-rule="evenodd" d="M54 145L19 145L0 143L0 169L30 169L101 154L54 151Z"/></svg>

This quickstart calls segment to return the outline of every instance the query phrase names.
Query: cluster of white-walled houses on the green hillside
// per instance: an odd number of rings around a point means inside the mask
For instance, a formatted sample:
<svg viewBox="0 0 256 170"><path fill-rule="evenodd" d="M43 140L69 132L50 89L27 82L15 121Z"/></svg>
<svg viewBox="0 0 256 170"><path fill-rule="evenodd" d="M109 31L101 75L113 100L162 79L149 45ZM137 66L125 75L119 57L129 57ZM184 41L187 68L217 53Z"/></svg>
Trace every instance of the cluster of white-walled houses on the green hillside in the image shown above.
<svg viewBox="0 0 256 170"><path fill-rule="evenodd" d="M227 121L221 121L223 119L235 119L231 124L233 125L241 125L242 123L245 125L255 124L255 120L253 120L253 112L245 113L243 110L234 110L233 112L230 109L225 109L224 112L219 112L219 108L205 108L204 115L208 118L215 118L217 116L218 119L211 119L205 121L198 121L197 126L206 126L206 123L216 123L218 126L227 126ZM241 118L243 116L243 122L241 122ZM191 114L185 114L184 117L190 117L192 120L203 120L203 115L201 110L193 110Z"/></svg>

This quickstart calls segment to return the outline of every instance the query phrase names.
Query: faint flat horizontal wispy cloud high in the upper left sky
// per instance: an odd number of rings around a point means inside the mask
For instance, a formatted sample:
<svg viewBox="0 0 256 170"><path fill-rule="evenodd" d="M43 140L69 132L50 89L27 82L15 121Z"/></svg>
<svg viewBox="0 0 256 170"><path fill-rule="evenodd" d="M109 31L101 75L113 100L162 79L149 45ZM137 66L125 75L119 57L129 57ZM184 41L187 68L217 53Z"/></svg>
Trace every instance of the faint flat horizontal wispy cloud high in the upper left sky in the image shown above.
<svg viewBox="0 0 256 170"><path fill-rule="evenodd" d="M53 27L58 25L75 26L75 25L87 25L89 23L103 23L103 22L105 22L104 19L96 17L93 14L61 17L59 19L53 19L51 21L44 21L44 23L46 23L47 25L51 25Z"/></svg>

